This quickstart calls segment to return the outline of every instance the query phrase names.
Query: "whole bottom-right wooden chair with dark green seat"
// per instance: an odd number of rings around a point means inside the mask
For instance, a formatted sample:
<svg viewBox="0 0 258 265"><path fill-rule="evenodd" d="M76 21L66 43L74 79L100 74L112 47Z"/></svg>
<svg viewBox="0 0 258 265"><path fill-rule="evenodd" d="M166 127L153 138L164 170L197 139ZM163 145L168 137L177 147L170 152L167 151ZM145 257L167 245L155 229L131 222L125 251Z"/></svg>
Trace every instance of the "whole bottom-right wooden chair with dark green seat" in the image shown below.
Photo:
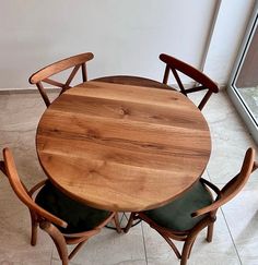
<svg viewBox="0 0 258 265"><path fill-rule="evenodd" d="M125 232L131 227L133 220L142 219L154 228L172 246L180 264L185 265L190 255L192 244L198 233L208 227L207 241L212 241L213 225L216 210L220 206L232 200L245 185L249 174L255 171L258 164L254 161L255 150L246 152L242 169L222 190L206 179L200 179L192 188L167 205L130 215ZM212 193L216 193L213 200ZM172 240L185 241L181 254Z"/></svg>

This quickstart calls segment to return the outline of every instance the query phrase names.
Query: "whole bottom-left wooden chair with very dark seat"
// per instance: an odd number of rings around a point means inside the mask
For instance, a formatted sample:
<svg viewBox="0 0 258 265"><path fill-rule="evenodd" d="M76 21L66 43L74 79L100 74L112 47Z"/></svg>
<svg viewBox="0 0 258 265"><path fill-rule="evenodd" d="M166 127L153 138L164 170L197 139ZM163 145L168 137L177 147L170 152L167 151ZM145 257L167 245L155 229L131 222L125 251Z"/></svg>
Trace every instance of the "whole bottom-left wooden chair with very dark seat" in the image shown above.
<svg viewBox="0 0 258 265"><path fill-rule="evenodd" d="M39 225L54 240L63 265L67 265L78 250L109 221L114 220L117 231L121 231L116 213L95 209L75 202L49 181L44 180L27 191L20 180L9 148L3 149L3 160L0 162L0 169L7 174L13 191L31 213L31 244L36 244ZM67 244L77 244L70 255Z"/></svg>

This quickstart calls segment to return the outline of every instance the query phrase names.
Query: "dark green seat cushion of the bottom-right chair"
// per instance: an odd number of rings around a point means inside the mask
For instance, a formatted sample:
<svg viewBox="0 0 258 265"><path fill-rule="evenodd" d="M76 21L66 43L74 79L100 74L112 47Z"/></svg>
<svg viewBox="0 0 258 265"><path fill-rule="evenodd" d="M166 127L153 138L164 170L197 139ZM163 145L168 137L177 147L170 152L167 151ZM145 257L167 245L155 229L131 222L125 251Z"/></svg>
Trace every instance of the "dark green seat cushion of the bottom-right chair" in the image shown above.
<svg viewBox="0 0 258 265"><path fill-rule="evenodd" d="M160 208L145 210L143 214L161 227L175 231L186 231L191 229L206 216L192 218L191 214L210 204L212 204L210 192L198 181L189 191L185 192L172 203Z"/></svg>

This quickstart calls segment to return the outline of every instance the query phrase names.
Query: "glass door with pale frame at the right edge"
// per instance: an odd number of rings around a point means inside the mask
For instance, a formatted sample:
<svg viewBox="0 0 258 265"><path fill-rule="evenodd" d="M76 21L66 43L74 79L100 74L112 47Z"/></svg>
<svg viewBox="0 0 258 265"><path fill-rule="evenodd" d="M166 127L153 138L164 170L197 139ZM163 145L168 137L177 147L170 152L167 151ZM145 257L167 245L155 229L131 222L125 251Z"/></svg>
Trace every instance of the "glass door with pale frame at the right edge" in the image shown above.
<svg viewBox="0 0 258 265"><path fill-rule="evenodd" d="M258 144L258 2L255 5L227 92Z"/></svg>

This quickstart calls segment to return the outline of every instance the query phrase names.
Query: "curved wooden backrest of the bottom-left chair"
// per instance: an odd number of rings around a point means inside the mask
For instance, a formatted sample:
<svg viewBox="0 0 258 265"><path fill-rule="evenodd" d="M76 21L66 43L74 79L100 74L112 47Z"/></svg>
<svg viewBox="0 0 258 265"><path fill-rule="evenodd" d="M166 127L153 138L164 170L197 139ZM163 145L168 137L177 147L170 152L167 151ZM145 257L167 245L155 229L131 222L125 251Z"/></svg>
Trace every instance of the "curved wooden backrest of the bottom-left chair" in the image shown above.
<svg viewBox="0 0 258 265"><path fill-rule="evenodd" d="M20 201L22 201L32 212L36 213L37 216L39 216L40 218L48 220L57 226L63 228L68 226L66 221L61 220L60 218L54 216L52 214L38 206L28 195L27 189L25 188L17 174L15 162L9 148L3 149L3 161L0 162L0 169L4 174L7 174L12 189L20 198Z"/></svg>

